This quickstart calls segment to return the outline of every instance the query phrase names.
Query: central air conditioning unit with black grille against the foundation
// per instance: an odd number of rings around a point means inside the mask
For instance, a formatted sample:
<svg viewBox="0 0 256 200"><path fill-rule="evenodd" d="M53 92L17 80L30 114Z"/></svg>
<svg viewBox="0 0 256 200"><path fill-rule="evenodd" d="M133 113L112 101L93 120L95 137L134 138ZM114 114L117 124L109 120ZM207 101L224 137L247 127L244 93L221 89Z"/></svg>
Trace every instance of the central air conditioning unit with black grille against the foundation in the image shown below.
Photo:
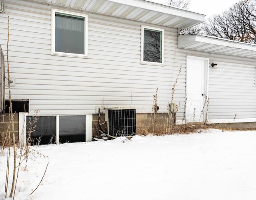
<svg viewBox="0 0 256 200"><path fill-rule="evenodd" d="M105 108L105 121L108 122L109 137L132 137L136 135L135 108Z"/></svg>

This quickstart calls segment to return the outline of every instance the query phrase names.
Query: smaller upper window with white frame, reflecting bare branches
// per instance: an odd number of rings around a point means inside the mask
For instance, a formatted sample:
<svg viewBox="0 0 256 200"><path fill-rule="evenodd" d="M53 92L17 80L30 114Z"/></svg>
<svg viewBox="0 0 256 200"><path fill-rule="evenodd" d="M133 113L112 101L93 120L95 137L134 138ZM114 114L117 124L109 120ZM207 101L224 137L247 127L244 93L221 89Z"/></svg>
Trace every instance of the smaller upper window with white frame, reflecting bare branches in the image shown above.
<svg viewBox="0 0 256 200"><path fill-rule="evenodd" d="M141 64L164 65L164 29L141 26Z"/></svg>

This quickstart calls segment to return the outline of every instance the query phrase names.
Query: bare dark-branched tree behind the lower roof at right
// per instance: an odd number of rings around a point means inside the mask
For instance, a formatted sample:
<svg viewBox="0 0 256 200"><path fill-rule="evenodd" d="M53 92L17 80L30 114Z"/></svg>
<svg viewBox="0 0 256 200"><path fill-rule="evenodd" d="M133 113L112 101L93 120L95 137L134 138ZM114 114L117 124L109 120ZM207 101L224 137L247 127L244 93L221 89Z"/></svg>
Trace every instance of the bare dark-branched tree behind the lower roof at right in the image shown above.
<svg viewBox="0 0 256 200"><path fill-rule="evenodd" d="M256 44L256 0L240 0L221 15L214 15L205 23L210 36Z"/></svg>

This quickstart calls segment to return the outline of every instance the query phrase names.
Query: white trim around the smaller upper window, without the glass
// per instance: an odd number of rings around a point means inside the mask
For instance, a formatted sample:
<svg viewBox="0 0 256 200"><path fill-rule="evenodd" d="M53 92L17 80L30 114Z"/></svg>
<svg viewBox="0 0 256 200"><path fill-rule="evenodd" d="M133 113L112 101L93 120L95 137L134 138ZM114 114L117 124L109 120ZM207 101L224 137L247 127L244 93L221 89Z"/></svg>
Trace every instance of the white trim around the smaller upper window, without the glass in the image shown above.
<svg viewBox="0 0 256 200"><path fill-rule="evenodd" d="M156 31L162 31L162 62L156 63L156 62L149 62L144 61L144 29L151 29ZM161 28L154 28L150 26L141 26L141 42L140 42L140 64L146 64L146 65L160 65L164 66L164 29Z"/></svg>

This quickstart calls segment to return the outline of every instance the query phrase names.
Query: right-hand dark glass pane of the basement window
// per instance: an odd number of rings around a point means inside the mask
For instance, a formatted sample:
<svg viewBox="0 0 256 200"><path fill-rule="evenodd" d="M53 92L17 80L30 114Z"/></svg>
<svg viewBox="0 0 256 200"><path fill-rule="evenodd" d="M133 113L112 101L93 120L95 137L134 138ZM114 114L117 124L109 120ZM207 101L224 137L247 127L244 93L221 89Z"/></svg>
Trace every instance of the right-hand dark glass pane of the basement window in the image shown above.
<svg viewBox="0 0 256 200"><path fill-rule="evenodd" d="M59 117L60 143L85 142L85 115Z"/></svg>

